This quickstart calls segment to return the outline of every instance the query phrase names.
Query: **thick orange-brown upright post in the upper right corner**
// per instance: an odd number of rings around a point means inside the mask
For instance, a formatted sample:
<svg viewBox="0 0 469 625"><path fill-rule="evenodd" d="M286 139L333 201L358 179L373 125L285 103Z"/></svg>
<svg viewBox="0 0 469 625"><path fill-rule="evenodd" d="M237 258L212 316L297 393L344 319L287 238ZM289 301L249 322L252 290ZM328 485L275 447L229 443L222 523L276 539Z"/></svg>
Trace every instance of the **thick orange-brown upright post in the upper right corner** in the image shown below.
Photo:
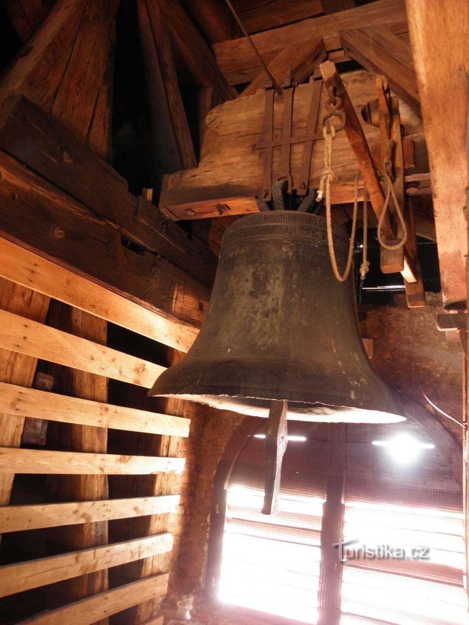
<svg viewBox="0 0 469 625"><path fill-rule="evenodd" d="M451 0L407 0L406 6L430 158L443 303L466 307L469 6Z"/></svg>

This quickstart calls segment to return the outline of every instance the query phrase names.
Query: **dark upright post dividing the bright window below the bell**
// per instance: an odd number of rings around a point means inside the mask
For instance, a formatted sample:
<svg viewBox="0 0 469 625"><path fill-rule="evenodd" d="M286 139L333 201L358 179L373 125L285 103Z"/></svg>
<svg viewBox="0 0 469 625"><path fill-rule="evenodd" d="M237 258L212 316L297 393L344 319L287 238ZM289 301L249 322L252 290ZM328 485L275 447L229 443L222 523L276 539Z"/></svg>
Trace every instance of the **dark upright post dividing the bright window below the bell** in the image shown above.
<svg viewBox="0 0 469 625"><path fill-rule="evenodd" d="M326 481L326 501L321 526L321 568L318 596L318 625L340 624L340 590L342 562L340 552L333 545L343 540L345 512L345 475L347 426L338 423L329 426L329 466Z"/></svg>

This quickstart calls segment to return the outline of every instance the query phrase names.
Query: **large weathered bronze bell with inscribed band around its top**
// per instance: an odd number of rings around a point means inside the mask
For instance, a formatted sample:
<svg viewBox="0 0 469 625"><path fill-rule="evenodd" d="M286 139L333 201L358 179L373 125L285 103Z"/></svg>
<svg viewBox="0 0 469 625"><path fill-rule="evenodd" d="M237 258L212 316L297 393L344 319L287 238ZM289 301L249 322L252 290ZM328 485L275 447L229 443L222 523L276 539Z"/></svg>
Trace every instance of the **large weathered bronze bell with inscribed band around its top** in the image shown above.
<svg viewBox="0 0 469 625"><path fill-rule="evenodd" d="M333 241L343 271L346 231L333 225ZM149 394L260 417L278 399L301 421L405 420L366 356L353 275L336 280L326 220L305 212L251 214L226 230L201 331Z"/></svg>

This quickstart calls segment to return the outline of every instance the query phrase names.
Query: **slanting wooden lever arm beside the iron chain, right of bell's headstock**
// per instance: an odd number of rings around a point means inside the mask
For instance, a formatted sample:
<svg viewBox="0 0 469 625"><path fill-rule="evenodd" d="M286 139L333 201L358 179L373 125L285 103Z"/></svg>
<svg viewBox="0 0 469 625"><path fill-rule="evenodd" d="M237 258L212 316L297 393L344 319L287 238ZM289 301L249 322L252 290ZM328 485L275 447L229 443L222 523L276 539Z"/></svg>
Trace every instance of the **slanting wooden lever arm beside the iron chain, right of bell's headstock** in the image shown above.
<svg viewBox="0 0 469 625"><path fill-rule="evenodd" d="M376 219L380 219L381 213L385 207L385 194L381 187L380 179L378 177L378 171L376 170L375 162L371 156L370 147L363 133L360 121L356 116L353 104L348 97L348 93L345 89L345 85L340 78L336 66L331 61L325 61L320 65L321 74L327 89L333 89L336 96L342 101L342 108L345 113L345 134L350 142L350 146L353 149L355 158L358 161L361 175L365 181L368 194L370 196L371 206L375 212ZM386 214L383 219L382 232L385 239L395 239L393 227L389 215ZM383 273L393 273L396 271L395 263L393 262L391 267L386 267L386 264L381 263L381 271ZM403 267L400 270L405 276L408 282L416 281L416 271L412 259L404 252Z"/></svg>

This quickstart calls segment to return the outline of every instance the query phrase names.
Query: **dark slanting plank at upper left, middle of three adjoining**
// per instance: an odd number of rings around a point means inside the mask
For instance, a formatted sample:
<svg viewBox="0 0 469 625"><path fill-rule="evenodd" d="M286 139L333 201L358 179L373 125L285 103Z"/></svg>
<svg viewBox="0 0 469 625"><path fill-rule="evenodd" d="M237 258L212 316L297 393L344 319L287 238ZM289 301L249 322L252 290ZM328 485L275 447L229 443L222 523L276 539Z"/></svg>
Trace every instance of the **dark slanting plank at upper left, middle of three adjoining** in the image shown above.
<svg viewBox="0 0 469 625"><path fill-rule="evenodd" d="M106 71L119 0L88 0L51 113L81 144L88 139ZM93 54L89 51L92 50Z"/></svg>

